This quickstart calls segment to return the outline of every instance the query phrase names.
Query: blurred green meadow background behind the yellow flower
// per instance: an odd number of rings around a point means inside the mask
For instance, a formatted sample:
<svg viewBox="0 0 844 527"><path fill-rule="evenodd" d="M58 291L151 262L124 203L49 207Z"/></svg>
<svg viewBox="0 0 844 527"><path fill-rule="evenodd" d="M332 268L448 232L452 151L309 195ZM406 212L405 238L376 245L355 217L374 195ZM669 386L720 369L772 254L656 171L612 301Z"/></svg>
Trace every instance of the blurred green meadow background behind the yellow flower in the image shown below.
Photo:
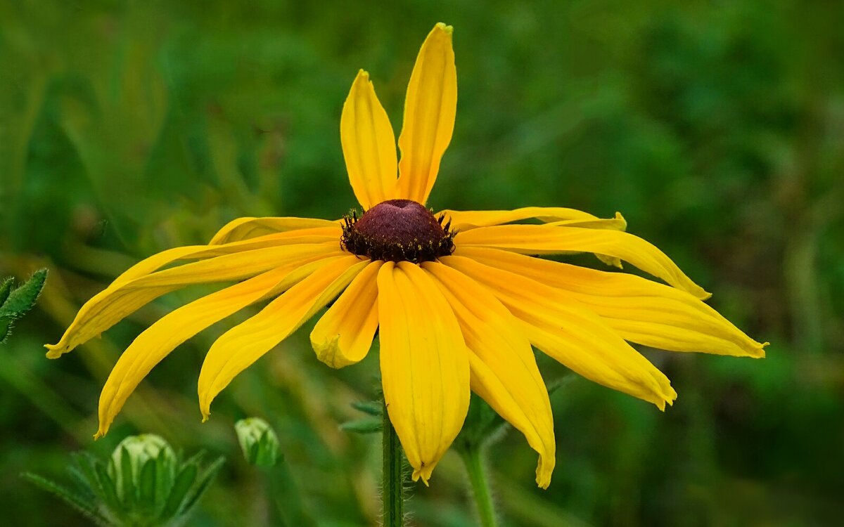
<svg viewBox="0 0 844 527"><path fill-rule="evenodd" d="M269 524L232 430L246 416L273 423L320 524L376 524L378 438L338 430L374 395L376 358L327 368L306 327L201 425L204 353L244 314L155 368L94 443L118 354L209 289L170 294L62 360L41 346L145 255L240 216L348 211L338 123L354 75L371 72L398 132L440 20L455 27L460 96L433 207L618 210L771 341L762 361L643 350L679 392L664 414L582 379L555 392L548 491L517 433L490 451L504 524L840 524L844 4L3 0L0 276L51 270L0 346L4 524L85 524L19 472L62 479L69 452L105 455L138 432L229 456L194 524ZM415 524L473 524L456 455L408 507Z"/></svg>

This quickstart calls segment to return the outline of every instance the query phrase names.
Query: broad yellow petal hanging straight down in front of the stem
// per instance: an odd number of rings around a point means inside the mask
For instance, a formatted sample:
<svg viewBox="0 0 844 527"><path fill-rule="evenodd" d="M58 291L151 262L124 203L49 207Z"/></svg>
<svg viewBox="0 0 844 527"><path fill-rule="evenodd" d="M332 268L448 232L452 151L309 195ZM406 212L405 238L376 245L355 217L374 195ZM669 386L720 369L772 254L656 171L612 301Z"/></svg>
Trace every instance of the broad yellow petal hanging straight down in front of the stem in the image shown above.
<svg viewBox="0 0 844 527"><path fill-rule="evenodd" d="M419 266L378 272L381 383L392 426L427 484L469 406L468 352L452 309Z"/></svg>

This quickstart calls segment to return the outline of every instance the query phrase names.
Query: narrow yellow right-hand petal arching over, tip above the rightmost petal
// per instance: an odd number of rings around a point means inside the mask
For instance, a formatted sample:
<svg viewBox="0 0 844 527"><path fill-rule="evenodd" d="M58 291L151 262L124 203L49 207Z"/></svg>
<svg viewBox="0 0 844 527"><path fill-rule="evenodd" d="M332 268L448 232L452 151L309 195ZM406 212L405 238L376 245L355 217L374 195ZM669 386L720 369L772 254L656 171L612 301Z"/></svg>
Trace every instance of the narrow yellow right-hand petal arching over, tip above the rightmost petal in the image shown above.
<svg viewBox="0 0 844 527"><path fill-rule="evenodd" d="M565 251L593 252L630 262L644 272L662 278L675 288L697 298L709 298L679 267L644 239L605 229L576 229L549 225L496 225L457 233L455 245L511 250L528 255L550 255Z"/></svg>

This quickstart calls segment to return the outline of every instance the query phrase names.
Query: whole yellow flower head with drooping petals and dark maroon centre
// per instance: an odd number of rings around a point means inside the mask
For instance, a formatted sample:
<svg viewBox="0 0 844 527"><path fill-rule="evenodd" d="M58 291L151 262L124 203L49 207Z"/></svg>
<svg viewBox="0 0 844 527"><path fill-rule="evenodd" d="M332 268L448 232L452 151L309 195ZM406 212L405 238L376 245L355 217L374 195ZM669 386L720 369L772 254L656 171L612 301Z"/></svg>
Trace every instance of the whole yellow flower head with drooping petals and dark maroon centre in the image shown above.
<svg viewBox="0 0 844 527"><path fill-rule="evenodd" d="M600 219L560 207L430 212L425 202L452 138L456 106L452 28L437 24L410 77L400 161L367 73L358 73L346 99L340 138L365 210L360 218L240 218L208 245L141 261L84 304L61 341L47 346L47 357L177 288L243 280L165 315L133 341L103 388L95 437L181 342L268 299L208 351L198 383L203 418L237 374L337 298L311 332L317 358L333 368L357 363L380 331L387 411L414 481L427 482L452 444L472 390L524 434L539 454L538 485L548 487L554 427L532 345L661 410L677 394L628 341L764 357L765 344L701 302L709 293L656 247L625 233L620 215ZM532 218L539 223L513 224ZM533 257L571 252L591 252L618 267L626 261L668 285Z"/></svg>

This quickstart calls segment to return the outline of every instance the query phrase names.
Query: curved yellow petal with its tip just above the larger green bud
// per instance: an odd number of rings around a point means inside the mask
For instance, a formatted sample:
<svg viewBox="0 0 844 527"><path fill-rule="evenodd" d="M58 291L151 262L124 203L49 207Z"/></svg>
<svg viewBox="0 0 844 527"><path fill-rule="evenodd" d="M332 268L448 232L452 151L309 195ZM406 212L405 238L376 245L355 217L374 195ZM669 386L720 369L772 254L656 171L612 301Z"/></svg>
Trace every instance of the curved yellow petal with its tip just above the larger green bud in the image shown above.
<svg viewBox="0 0 844 527"><path fill-rule="evenodd" d="M138 383L182 342L247 305L284 291L326 263L323 259L303 266L298 263L279 266L194 300L150 325L127 347L111 370L100 394L100 429L94 437L106 435Z"/></svg>

